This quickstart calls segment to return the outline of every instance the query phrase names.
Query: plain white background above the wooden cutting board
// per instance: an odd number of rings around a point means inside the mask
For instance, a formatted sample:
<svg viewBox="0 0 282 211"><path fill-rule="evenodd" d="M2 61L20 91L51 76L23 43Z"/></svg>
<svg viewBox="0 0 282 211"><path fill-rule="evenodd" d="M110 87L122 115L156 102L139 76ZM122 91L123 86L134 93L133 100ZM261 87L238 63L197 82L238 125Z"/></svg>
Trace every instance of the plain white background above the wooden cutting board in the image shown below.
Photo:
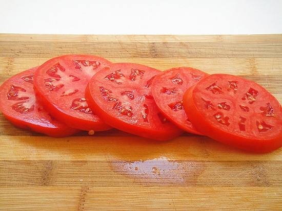
<svg viewBox="0 0 282 211"><path fill-rule="evenodd" d="M282 0L0 0L0 33L282 34Z"/></svg>

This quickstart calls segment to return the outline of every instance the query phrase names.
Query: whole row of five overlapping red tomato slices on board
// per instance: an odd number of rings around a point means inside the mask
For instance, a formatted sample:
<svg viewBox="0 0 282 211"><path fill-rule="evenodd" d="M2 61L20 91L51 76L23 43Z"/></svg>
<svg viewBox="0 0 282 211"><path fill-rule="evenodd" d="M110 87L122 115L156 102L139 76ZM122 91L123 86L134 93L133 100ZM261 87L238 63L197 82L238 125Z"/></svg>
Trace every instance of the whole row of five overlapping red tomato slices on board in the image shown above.
<svg viewBox="0 0 282 211"><path fill-rule="evenodd" d="M156 140L186 131L254 152L282 146L282 108L265 88L191 67L64 55L5 81L0 102L12 124L54 137L117 128Z"/></svg>

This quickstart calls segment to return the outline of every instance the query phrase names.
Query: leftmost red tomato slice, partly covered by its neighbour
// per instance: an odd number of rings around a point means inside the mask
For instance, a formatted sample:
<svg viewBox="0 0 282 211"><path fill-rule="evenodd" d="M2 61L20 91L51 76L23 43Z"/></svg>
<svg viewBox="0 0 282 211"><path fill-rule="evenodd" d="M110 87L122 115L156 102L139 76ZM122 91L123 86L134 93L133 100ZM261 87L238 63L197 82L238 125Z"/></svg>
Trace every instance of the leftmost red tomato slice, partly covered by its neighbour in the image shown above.
<svg viewBox="0 0 282 211"><path fill-rule="evenodd" d="M54 137L72 135L79 130L56 121L34 95L33 76L37 67L14 75L0 87L0 110L15 126Z"/></svg>

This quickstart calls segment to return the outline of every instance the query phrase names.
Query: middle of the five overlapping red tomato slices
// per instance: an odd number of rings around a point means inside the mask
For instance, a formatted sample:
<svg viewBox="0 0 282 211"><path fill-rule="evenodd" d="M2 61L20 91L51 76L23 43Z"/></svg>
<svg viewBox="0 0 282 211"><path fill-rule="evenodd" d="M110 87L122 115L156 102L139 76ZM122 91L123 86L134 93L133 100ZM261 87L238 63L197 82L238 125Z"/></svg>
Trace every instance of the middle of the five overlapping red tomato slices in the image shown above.
<svg viewBox="0 0 282 211"><path fill-rule="evenodd" d="M151 93L157 69L133 63L115 63L89 81L86 99L97 115L119 130L139 136L168 140L183 131L158 110Z"/></svg>

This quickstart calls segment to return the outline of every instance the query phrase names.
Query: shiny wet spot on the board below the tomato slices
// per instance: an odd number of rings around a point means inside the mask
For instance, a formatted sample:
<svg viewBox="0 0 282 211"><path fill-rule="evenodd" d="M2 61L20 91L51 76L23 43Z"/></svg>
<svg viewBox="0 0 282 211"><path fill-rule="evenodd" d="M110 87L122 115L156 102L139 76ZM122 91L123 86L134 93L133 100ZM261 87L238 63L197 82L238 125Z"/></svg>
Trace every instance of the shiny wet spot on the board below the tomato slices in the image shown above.
<svg viewBox="0 0 282 211"><path fill-rule="evenodd" d="M138 161L115 160L112 169L142 185L194 186L204 171L204 165L203 161L176 161L162 156Z"/></svg>

